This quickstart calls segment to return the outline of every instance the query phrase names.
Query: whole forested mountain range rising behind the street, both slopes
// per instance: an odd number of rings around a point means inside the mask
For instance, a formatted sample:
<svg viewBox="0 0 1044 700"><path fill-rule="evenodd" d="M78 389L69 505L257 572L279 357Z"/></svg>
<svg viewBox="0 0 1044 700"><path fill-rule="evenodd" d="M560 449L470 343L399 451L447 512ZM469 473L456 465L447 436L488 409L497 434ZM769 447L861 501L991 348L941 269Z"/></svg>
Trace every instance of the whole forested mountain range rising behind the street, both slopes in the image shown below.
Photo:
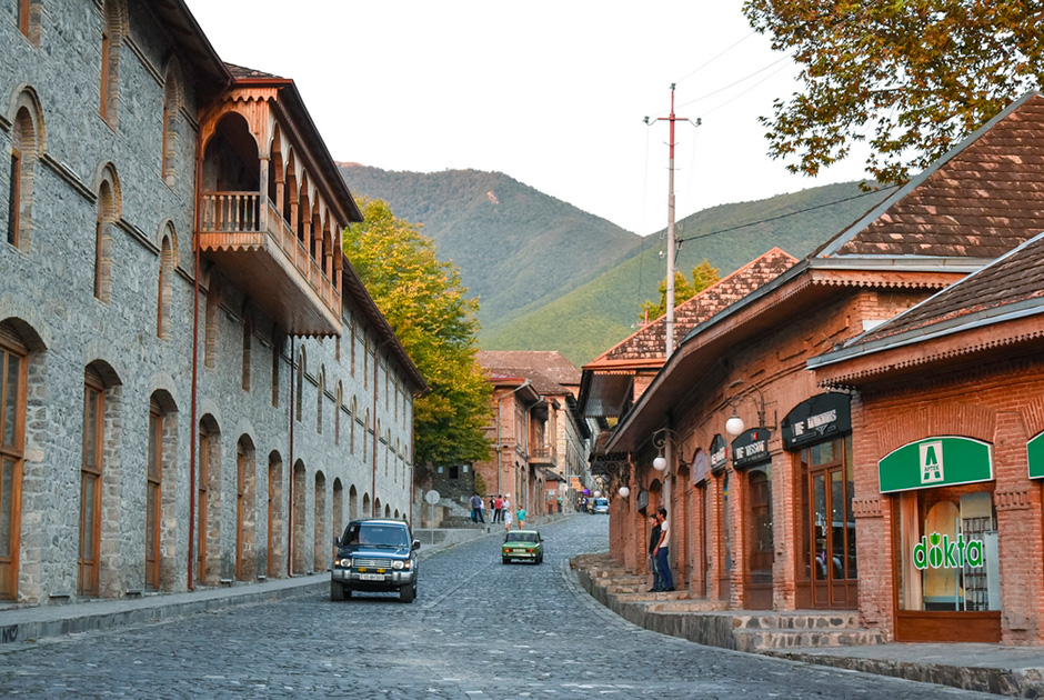
<svg viewBox="0 0 1044 700"><path fill-rule="evenodd" d="M483 350L558 350L581 366L639 328L666 276L663 232L642 238L500 172L340 169L460 268ZM804 258L887 193L847 182L704 209L675 226L677 269L691 276L706 258L724 277L774 247Z"/></svg>

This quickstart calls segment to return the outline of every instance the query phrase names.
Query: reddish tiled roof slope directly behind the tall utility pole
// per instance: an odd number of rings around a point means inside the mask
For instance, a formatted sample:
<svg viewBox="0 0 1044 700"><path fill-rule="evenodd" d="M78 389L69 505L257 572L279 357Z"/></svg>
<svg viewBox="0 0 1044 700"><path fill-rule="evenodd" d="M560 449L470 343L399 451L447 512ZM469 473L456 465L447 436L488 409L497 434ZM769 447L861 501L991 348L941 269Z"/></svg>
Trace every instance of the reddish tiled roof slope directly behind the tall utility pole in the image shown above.
<svg viewBox="0 0 1044 700"><path fill-rule="evenodd" d="M687 299L674 309L675 343L693 328L746 297L759 287L789 270L797 259L773 248L760 258L746 263L732 274L719 280L702 292ZM665 357L666 316L660 317L642 330L619 343L586 367L602 361L642 360Z"/></svg>

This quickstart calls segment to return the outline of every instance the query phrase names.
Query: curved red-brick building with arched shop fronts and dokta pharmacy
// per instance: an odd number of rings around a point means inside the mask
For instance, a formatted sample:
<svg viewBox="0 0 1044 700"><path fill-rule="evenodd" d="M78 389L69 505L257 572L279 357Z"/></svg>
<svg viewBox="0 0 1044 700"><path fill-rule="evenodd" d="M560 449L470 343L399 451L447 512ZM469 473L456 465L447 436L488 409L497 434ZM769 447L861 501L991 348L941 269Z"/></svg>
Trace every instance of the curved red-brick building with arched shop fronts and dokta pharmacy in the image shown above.
<svg viewBox="0 0 1044 700"><path fill-rule="evenodd" d="M1035 312L1040 280L1013 287L1031 264L1010 262L958 283L1044 230L1042 166L1044 98L1030 93L696 324L604 442L630 491L613 502L614 556L642 570L643 509L665 502L675 579L707 609L857 610L891 638L1042 641L1041 559L1024 554L1041 551L1041 489L1020 452L1044 428L1040 363L1021 331L983 321ZM980 476L893 483L911 454L944 449L971 450ZM957 534L978 566L936 571L932 538ZM922 536L926 569L911 559Z"/></svg>

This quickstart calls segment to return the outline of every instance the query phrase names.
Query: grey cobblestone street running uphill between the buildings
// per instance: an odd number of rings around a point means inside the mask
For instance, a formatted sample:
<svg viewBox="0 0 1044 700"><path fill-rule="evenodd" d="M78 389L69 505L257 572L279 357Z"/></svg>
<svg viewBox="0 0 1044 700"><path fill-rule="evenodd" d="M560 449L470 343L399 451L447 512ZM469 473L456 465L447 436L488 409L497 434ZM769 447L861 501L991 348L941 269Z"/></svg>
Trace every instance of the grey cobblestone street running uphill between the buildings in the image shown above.
<svg viewBox="0 0 1044 700"><path fill-rule="evenodd" d="M412 604L310 594L2 648L0 698L993 697L638 628L570 573L570 556L608 547L608 523L542 527L541 566L503 566L499 537L438 552Z"/></svg>

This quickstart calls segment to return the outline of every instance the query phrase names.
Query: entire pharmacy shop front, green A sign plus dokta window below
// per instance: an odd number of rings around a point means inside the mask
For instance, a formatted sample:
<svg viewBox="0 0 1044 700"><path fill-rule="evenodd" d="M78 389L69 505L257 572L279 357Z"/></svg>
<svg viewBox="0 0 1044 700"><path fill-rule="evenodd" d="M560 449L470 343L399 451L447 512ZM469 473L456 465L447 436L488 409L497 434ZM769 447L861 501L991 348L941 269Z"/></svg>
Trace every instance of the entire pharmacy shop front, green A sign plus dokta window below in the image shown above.
<svg viewBox="0 0 1044 700"><path fill-rule="evenodd" d="M1000 641L993 447L932 437L893 450L877 469L892 499L896 640Z"/></svg>

